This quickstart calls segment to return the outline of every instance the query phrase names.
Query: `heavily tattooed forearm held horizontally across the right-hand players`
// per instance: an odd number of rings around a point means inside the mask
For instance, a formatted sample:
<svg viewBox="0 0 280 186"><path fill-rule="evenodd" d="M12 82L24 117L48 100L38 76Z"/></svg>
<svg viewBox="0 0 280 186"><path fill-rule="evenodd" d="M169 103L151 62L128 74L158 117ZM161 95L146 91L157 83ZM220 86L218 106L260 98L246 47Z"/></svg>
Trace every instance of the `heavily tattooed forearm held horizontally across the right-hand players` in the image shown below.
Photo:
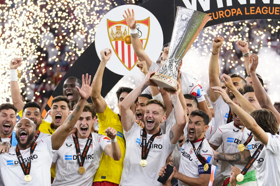
<svg viewBox="0 0 280 186"><path fill-rule="evenodd" d="M226 153L219 153L217 155L218 160L223 160L227 162L236 162L239 164L246 164L250 158L251 154L249 156L246 156L245 152L242 151L240 153L233 153L233 154L226 154Z"/></svg>

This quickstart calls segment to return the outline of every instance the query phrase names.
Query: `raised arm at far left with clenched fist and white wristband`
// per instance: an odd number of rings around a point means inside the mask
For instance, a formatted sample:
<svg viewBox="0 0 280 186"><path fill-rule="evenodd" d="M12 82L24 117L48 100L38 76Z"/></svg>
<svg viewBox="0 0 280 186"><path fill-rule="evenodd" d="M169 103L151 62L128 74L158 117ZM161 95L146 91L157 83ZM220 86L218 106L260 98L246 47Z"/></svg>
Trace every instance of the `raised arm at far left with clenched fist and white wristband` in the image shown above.
<svg viewBox="0 0 280 186"><path fill-rule="evenodd" d="M20 88L17 82L17 68L21 65L21 58L14 58L10 62L10 86L11 86L11 97L13 104L18 111L24 107L24 102L21 99Z"/></svg>

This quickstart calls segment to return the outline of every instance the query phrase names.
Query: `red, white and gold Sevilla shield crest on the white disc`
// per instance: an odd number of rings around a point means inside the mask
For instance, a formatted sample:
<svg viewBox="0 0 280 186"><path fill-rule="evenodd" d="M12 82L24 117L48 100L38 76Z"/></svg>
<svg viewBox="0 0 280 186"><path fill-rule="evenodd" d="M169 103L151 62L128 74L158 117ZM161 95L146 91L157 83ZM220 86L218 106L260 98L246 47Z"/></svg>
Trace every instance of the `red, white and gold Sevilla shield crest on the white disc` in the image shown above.
<svg viewBox="0 0 280 186"><path fill-rule="evenodd" d="M150 17L136 22L138 37L143 44L143 49L146 48L150 33ZM125 20L111 21L107 19L107 30L111 45L122 64L130 71L137 63L138 58L134 53L130 29Z"/></svg>

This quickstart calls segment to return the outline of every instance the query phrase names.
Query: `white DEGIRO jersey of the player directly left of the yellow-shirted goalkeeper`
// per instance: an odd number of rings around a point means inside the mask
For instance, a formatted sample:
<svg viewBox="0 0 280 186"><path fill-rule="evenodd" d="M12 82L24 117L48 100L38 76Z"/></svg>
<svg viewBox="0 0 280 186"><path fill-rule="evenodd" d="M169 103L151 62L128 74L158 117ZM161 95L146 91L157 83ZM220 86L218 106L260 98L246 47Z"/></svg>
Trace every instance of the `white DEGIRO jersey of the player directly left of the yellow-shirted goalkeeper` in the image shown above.
<svg viewBox="0 0 280 186"><path fill-rule="evenodd" d="M69 135L60 149L55 153L53 162L55 162L55 179L52 186L71 185L71 186L92 186L93 178L99 167L99 161L104 149L111 144L108 137L97 133L92 134L92 143L89 146L84 165L85 173L80 174L79 163L75 143L72 135ZM86 146L88 138L78 139L81 154ZM113 168L113 167L111 167Z"/></svg>

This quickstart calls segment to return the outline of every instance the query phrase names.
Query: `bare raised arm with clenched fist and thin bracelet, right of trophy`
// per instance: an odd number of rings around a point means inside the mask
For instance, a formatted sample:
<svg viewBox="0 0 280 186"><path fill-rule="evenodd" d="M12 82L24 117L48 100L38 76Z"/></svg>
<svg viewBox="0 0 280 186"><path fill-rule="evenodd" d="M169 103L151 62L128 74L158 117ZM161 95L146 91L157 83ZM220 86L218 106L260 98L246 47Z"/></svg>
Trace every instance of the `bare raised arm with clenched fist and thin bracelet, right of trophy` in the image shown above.
<svg viewBox="0 0 280 186"><path fill-rule="evenodd" d="M220 68L219 68L219 51L224 42L224 38L221 36L215 37L213 40L212 54L209 62L209 83L210 87L221 86L220 83ZM220 95L209 89L209 97L212 103L214 103Z"/></svg>

